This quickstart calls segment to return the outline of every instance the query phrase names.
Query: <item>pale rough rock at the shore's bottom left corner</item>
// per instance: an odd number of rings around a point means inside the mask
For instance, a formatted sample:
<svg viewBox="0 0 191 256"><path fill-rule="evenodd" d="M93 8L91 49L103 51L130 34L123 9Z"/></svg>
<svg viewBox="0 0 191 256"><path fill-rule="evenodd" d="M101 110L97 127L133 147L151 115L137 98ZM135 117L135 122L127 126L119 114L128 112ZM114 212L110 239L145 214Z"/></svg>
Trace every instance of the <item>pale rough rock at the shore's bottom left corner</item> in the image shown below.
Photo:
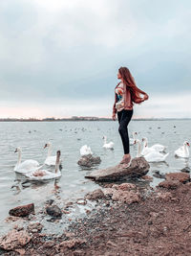
<svg viewBox="0 0 191 256"><path fill-rule="evenodd" d="M0 247L5 250L20 248L28 244L31 239L28 232L12 229L6 236L0 238Z"/></svg>

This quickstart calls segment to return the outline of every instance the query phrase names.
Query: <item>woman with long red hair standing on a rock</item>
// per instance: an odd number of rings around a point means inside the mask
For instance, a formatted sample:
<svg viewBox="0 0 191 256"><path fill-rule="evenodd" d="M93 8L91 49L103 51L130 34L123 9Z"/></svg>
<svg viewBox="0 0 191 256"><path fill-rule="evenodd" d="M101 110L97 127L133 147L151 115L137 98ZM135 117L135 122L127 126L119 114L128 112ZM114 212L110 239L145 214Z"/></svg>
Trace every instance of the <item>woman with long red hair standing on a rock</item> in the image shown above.
<svg viewBox="0 0 191 256"><path fill-rule="evenodd" d="M120 164L125 164L128 167L131 163L131 155L129 153L129 135L127 126L131 121L133 115L134 103L140 104L145 100L148 100L148 95L138 89L134 78L132 77L127 67L120 67L118 69L117 79L120 82L117 83L115 88L115 104L113 106L113 120L116 120L116 114L118 119L118 132L120 134L124 155ZM143 95L143 98L140 95Z"/></svg>

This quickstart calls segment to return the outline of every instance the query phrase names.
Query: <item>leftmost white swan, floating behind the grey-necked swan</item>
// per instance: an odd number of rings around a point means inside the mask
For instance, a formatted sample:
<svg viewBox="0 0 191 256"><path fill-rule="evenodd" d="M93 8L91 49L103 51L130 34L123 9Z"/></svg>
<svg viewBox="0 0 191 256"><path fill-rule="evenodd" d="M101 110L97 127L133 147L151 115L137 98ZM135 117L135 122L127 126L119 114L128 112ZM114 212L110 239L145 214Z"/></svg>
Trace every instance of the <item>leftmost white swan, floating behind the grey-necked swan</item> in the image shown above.
<svg viewBox="0 0 191 256"><path fill-rule="evenodd" d="M21 148L16 148L14 152L18 152L18 161L14 167L14 172L21 175L25 175L39 166L39 163L36 160L32 159L25 160L24 162L21 163Z"/></svg>

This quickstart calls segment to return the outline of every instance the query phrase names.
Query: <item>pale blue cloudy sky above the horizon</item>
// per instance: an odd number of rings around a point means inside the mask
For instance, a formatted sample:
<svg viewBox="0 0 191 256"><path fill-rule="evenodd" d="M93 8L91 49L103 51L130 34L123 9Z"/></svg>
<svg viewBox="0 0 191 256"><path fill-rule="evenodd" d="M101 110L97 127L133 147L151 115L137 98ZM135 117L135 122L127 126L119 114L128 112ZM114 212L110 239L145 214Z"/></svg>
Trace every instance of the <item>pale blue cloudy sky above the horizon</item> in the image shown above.
<svg viewBox="0 0 191 256"><path fill-rule="evenodd" d="M111 117L120 66L135 118L191 118L191 1L0 1L0 118Z"/></svg>

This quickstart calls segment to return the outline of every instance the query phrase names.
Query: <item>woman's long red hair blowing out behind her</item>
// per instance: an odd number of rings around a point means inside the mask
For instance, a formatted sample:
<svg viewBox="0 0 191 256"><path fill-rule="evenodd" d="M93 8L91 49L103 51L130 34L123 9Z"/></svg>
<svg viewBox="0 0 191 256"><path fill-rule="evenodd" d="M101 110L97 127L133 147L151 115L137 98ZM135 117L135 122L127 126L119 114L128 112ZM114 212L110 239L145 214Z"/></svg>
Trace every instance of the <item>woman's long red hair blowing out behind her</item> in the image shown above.
<svg viewBox="0 0 191 256"><path fill-rule="evenodd" d="M129 71L129 69L127 67L120 67L118 69L118 72L122 78L122 81L126 84L127 88L131 92L132 102L136 104L140 104L141 102L143 102L140 95L143 94L143 95L146 95L147 97L148 95L146 94L146 92L138 88L138 86L136 85L136 81L132 77L132 74Z"/></svg>

